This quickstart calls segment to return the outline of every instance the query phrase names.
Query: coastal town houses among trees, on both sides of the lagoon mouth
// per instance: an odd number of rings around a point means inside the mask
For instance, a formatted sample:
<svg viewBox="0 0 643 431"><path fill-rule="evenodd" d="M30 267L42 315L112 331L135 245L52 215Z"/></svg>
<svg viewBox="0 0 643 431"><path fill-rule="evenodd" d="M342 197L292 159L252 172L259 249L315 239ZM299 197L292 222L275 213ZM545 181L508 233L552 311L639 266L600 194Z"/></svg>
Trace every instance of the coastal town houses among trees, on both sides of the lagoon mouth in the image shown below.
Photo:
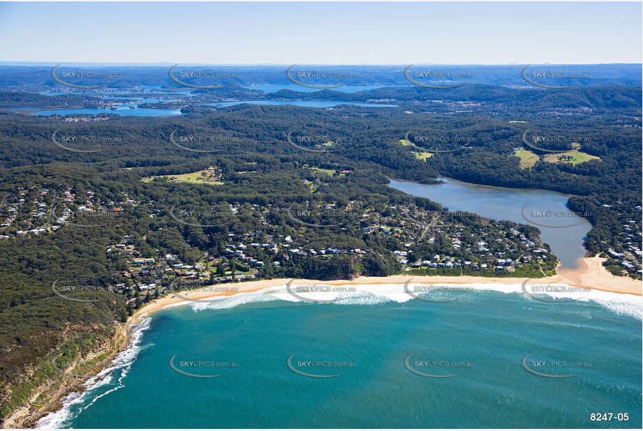
<svg viewBox="0 0 643 431"><path fill-rule="evenodd" d="M172 181L177 180L177 177L172 178ZM310 186L316 187L314 183L310 183ZM109 219L126 217L127 209L140 204L127 195L118 202L101 199L91 190L78 192L72 188L58 191L20 188L7 195L0 207L0 240L50 233L66 225L75 229L102 225ZM603 205L606 210L610 206ZM149 211L150 218L163 217L168 213L165 206L158 202L150 202L144 207ZM239 211L246 211L238 203L229 204L228 207L230 214L235 217ZM367 242L369 239L387 241L390 244L389 252L393 253L403 272L510 275L525 265L539 268L539 271L543 267L551 269L555 261L551 251L533 238L535 231L521 230L519 225L508 222L488 220L484 228L472 229L457 222L453 215L458 214L447 211L418 211L405 206L391 206L382 212L364 207L359 201L351 201L344 208L338 208L337 203L328 203L322 211L352 215L348 221L353 229L362 232ZM128 266L114 276L112 289L121 292L132 290L133 287L140 292L154 290L156 287L167 287L170 277L213 283L277 277L287 273L288 266L301 259L374 253L364 243L350 247L344 241L335 244L316 241L315 231L324 232L323 223L318 228L311 228L283 206L254 205L249 207L249 213L261 229L251 232L229 231L225 234L225 243L221 242L219 248L202 250L202 259L190 259L191 262L182 262L167 253L141 256L129 236L120 244L110 245L106 250L110 259L124 255ZM269 213L287 220L288 229L271 225ZM184 222L180 218L178 220L179 223ZM180 225L175 227L180 228ZM615 236L616 243L603 241L605 257L609 258L612 270L617 266L623 274L640 277L643 254L640 249L640 226L635 220L629 220L621 226L621 232ZM154 259L154 262L149 259Z"/></svg>

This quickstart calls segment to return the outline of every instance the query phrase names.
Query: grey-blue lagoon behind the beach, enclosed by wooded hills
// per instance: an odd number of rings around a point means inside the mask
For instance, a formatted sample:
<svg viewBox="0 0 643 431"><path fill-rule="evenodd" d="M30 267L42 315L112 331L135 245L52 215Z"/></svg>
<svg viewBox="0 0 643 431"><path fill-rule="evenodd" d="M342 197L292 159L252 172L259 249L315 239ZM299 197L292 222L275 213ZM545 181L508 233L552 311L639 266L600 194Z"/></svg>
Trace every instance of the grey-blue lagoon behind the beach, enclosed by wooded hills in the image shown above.
<svg viewBox="0 0 643 431"><path fill-rule="evenodd" d="M549 190L478 186L452 179L442 184L391 181L389 186L408 195L427 197L450 211L467 211L494 220L508 220L540 229L561 268L577 268L585 255L583 241L591 223L567 208L570 195ZM542 213L542 211L549 211Z"/></svg>

